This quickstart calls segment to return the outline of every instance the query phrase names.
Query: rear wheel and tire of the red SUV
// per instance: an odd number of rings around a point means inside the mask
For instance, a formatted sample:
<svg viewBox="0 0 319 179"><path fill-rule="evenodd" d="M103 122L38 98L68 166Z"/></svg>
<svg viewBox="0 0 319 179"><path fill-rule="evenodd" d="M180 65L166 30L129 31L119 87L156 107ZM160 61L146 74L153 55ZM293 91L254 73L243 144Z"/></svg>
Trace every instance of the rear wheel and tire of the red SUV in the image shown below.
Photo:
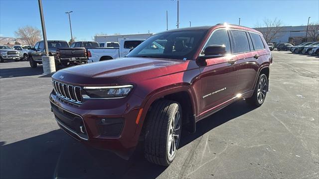
<svg viewBox="0 0 319 179"><path fill-rule="evenodd" d="M254 106L261 106L266 98L266 94L268 91L268 79L265 74L261 74L258 78L254 93L251 97L246 98L246 102L254 105Z"/></svg>

